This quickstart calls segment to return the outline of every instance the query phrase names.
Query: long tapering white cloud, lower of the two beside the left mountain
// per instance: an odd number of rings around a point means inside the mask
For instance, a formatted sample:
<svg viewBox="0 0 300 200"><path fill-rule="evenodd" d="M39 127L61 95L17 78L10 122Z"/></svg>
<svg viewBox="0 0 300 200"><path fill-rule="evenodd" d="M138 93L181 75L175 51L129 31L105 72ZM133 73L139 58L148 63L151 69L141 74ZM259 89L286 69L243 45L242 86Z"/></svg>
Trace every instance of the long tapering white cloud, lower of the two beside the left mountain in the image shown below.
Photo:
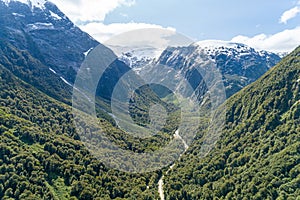
<svg viewBox="0 0 300 200"><path fill-rule="evenodd" d="M79 26L83 31L92 35L99 42L105 42L112 36L137 30L137 29L146 29L146 28L159 28L159 29L168 29L175 31L174 28L164 28L156 24L146 24L146 23L113 23L113 24L103 24L101 22L92 22L86 25Z"/></svg>

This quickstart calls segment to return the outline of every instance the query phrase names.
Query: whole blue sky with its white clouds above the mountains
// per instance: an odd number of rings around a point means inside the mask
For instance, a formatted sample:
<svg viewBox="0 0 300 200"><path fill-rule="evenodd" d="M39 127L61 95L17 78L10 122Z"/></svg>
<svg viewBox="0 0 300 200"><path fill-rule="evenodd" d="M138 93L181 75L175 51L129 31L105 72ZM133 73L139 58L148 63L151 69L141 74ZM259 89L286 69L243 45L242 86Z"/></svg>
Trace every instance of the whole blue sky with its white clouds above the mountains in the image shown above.
<svg viewBox="0 0 300 200"><path fill-rule="evenodd" d="M174 29L194 40L270 51L300 45L300 0L52 0L100 42L138 28Z"/></svg>

